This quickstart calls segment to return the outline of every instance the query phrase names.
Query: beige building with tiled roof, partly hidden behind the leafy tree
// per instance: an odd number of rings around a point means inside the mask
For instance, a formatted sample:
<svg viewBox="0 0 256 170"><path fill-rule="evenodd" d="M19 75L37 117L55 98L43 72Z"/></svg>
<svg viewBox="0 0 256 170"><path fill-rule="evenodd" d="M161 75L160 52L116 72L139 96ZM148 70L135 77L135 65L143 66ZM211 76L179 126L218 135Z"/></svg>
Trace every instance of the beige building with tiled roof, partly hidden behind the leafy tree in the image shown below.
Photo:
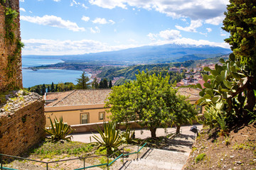
<svg viewBox="0 0 256 170"><path fill-rule="evenodd" d="M68 125L82 125L88 123L101 123L109 120L104 108L105 100L111 89L73 90L65 92L48 93L45 96L46 127L50 125L50 119L63 117ZM178 94L187 96L191 104L200 98L200 90L180 88ZM196 106L198 113L203 113L201 106Z"/></svg>

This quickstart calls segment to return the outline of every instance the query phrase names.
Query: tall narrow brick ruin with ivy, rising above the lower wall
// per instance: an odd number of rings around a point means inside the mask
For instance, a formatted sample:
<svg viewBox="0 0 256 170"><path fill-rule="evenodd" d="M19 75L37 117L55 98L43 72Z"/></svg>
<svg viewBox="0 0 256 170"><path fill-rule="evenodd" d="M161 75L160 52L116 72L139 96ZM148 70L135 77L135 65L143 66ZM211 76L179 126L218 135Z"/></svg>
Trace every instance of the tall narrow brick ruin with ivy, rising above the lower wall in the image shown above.
<svg viewBox="0 0 256 170"><path fill-rule="evenodd" d="M9 21L8 11L16 11ZM0 93L22 88L18 0L0 0Z"/></svg>

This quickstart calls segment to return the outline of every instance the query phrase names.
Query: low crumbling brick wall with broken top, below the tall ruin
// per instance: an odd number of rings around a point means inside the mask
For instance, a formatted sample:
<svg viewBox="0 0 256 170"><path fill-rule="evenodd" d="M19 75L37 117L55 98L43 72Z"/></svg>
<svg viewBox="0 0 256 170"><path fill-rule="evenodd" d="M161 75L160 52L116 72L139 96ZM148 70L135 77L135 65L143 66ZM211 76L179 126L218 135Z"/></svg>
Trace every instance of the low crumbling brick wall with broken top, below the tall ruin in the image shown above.
<svg viewBox="0 0 256 170"><path fill-rule="evenodd" d="M27 98L32 99L25 102L25 106L18 103L14 106L21 108L11 107L8 113L0 112L1 154L22 154L46 136L43 131L46 125L44 101L37 94L29 94Z"/></svg>

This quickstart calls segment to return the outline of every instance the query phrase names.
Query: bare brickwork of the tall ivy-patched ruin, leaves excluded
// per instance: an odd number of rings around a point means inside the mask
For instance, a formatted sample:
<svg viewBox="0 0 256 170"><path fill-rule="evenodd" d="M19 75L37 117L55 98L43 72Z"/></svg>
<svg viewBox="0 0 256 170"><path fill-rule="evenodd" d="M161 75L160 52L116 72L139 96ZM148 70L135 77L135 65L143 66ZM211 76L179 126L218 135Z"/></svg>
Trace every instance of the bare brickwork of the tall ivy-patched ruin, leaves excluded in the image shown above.
<svg viewBox="0 0 256 170"><path fill-rule="evenodd" d="M14 42L6 38L6 8L11 8L18 12L18 17L14 19L12 32L14 33ZM20 22L19 22L19 1L18 0L0 0L0 93L13 89L22 88L21 74L21 51L15 52L17 40L21 40ZM16 57L16 61L10 63L10 56ZM14 64L15 63L15 64ZM13 75L9 75L9 65L15 70Z"/></svg>

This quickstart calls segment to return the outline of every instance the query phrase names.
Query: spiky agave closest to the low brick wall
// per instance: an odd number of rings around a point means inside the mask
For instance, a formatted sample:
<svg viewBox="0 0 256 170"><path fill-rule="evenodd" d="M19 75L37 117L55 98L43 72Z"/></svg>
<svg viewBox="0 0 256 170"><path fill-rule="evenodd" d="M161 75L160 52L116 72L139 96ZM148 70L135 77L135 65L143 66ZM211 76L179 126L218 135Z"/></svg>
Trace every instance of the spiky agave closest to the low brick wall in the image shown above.
<svg viewBox="0 0 256 170"><path fill-rule="evenodd" d="M74 129L72 129L68 123L63 123L63 117L60 117L59 121L55 117L54 123L50 118L50 127L45 128L44 131L50 135L50 137L47 138L50 138L52 142L58 142L59 140L71 140L73 136L67 136L70 135Z"/></svg>

